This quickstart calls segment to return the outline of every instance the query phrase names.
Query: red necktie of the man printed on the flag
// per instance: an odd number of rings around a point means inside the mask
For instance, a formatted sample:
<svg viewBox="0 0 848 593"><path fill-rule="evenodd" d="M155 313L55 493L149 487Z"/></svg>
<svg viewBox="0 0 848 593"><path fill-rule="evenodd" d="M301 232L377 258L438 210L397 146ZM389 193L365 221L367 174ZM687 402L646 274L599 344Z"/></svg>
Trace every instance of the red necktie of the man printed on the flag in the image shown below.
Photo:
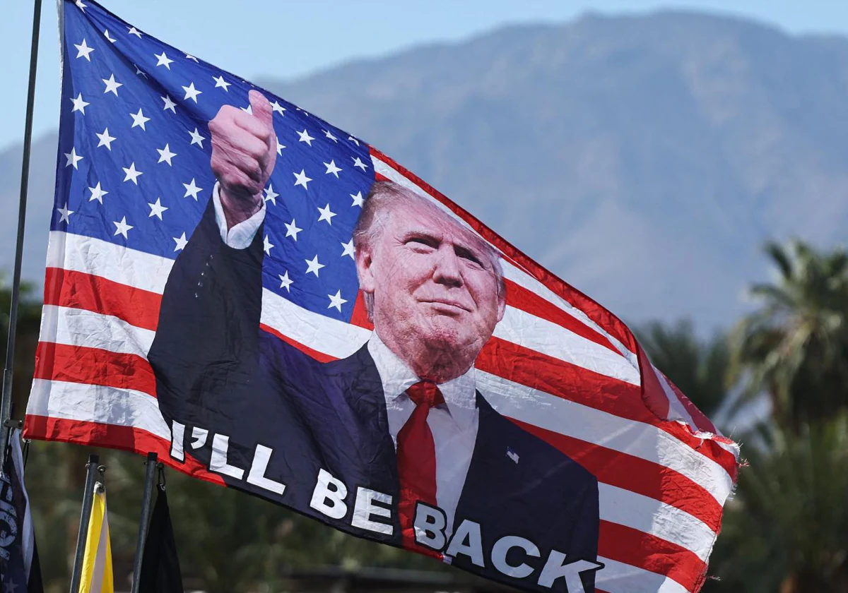
<svg viewBox="0 0 848 593"><path fill-rule="evenodd" d="M444 397L438 391L438 386L431 381L412 385L406 394L416 404L416 409L398 432L400 531L405 548L440 558L442 555L437 551L416 544L413 523L416 502L436 506L436 445L430 427L427 426L427 415L431 407L444 403Z"/></svg>

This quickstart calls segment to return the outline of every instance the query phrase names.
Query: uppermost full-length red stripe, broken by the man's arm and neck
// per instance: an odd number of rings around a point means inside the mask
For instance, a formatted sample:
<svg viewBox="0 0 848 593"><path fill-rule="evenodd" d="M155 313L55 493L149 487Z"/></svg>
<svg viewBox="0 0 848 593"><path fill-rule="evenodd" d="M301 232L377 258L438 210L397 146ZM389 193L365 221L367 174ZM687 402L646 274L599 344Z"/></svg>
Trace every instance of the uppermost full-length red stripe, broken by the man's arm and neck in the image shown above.
<svg viewBox="0 0 848 593"><path fill-rule="evenodd" d="M120 285L110 280L103 280L98 276L79 272L70 273L65 280L60 294L63 296L69 295L71 300L70 302L59 301L53 304L66 307L74 306L95 313L114 315L132 325L142 323L149 325L153 313L159 314L161 297L156 293ZM103 288L111 288L111 285L117 287L122 298L126 298L126 303L133 304L123 306L120 303L113 302L110 298L101 298L97 292L92 291L92 287L100 286L101 282L108 283L108 285L103 285ZM135 294L136 292L139 294ZM153 312L151 312L151 308ZM307 352L316 360L321 362L334 360L334 357L315 351L309 346L296 343L268 325L262 324L260 327ZM655 401L659 402L660 405L664 402L667 406L668 401L665 392L662 391L661 386L656 381L656 375L653 373L649 375L653 376L656 385L649 392L654 394L654 399L646 400L644 397L639 397L639 393L635 391L638 388L635 386L611 379L605 375L594 374L589 369L583 369L583 367L566 363L558 358L549 357L498 338L492 338L483 348L483 352L478 357L477 367L507 380L546 391L552 395L561 396L615 414L621 418L657 426L674 435L694 450L720 463L722 468L725 468L731 476L735 475L736 460L732 453L713 441L707 441L693 435L690 430L681 424L661 420L658 418L660 413L656 409L651 408L649 411L644 407L644 403ZM96 380L92 380L92 382L96 382ZM659 393L657 390L659 390Z"/></svg>

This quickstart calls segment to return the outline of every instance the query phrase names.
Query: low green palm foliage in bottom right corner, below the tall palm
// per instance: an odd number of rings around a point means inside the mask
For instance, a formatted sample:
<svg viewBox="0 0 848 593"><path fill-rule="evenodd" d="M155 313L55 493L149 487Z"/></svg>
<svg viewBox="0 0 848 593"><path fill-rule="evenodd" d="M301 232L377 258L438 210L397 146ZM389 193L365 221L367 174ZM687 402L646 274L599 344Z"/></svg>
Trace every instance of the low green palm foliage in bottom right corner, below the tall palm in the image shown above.
<svg viewBox="0 0 848 593"><path fill-rule="evenodd" d="M848 590L848 414L761 429L711 558L707 591Z"/></svg>

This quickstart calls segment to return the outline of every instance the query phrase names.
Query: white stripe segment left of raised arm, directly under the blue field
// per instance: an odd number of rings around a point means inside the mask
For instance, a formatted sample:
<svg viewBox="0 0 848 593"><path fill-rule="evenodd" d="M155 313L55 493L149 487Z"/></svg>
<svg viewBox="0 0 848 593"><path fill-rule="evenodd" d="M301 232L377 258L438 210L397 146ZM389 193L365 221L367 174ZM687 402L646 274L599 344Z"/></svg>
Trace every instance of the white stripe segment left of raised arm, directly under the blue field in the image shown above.
<svg viewBox="0 0 848 593"><path fill-rule="evenodd" d="M50 232L47 268L97 274L107 280L162 294L174 260L83 235Z"/></svg>

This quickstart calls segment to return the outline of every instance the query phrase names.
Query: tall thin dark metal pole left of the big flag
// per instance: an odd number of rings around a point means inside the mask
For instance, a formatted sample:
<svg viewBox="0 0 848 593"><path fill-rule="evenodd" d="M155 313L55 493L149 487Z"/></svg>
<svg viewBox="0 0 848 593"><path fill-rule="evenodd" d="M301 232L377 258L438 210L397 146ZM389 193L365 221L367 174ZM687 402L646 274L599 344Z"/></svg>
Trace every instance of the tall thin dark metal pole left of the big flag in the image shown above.
<svg viewBox="0 0 848 593"><path fill-rule="evenodd" d="M12 406L12 371L14 369L14 341L18 329L18 296L20 293L20 264L24 252L24 224L26 222L26 191L30 185L30 146L32 144L32 110L36 97L36 68L38 66L38 33L41 28L42 0L36 0L32 12L32 43L30 47L30 86L26 94L26 120L24 125L24 155L20 167L20 202L18 203L18 242L14 251L14 275L12 276L12 305L8 312L8 340L6 341L6 364L3 367L3 398L0 400L0 459L6 458Z"/></svg>

